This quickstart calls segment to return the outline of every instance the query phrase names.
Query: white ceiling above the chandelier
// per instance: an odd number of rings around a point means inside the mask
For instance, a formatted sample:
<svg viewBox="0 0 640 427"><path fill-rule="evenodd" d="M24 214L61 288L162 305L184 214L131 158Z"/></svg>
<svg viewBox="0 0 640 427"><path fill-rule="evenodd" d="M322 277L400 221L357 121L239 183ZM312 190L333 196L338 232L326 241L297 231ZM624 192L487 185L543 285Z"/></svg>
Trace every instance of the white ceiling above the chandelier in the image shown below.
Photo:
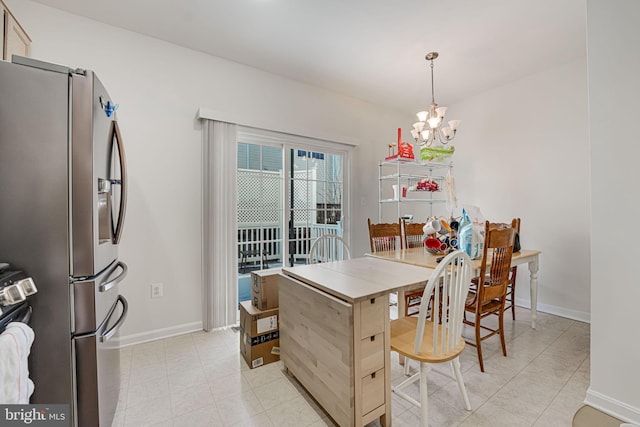
<svg viewBox="0 0 640 427"><path fill-rule="evenodd" d="M414 113L586 55L584 0L35 0Z"/></svg>

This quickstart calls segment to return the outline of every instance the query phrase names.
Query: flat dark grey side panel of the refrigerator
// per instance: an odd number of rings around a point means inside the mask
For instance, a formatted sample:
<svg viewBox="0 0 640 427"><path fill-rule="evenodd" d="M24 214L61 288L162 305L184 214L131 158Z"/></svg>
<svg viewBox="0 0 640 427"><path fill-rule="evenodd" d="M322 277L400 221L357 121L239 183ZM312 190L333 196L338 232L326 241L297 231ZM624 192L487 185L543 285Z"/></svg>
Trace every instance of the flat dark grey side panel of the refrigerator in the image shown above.
<svg viewBox="0 0 640 427"><path fill-rule="evenodd" d="M38 287L31 403L72 396L69 108L68 73L0 61L0 260Z"/></svg>

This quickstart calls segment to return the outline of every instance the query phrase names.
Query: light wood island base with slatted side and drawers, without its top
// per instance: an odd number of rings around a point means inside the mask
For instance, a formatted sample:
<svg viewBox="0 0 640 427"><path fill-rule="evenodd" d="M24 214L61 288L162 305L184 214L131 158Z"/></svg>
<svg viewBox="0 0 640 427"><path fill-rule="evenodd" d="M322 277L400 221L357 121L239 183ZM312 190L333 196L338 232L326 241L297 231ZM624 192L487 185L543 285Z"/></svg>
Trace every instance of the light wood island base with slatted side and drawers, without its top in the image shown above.
<svg viewBox="0 0 640 427"><path fill-rule="evenodd" d="M390 413L388 296L349 304L286 276L279 289L285 368L340 426Z"/></svg>

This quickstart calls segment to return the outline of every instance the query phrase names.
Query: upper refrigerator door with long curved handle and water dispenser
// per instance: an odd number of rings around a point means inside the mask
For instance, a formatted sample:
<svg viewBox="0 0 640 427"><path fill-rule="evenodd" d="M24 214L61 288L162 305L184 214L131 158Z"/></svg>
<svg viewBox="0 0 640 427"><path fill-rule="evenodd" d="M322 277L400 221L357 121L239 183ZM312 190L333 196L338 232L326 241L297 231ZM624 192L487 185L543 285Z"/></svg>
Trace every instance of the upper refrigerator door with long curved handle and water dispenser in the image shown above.
<svg viewBox="0 0 640 427"><path fill-rule="evenodd" d="M93 72L71 75L71 99L71 275L89 277L118 256L126 165L116 105Z"/></svg>

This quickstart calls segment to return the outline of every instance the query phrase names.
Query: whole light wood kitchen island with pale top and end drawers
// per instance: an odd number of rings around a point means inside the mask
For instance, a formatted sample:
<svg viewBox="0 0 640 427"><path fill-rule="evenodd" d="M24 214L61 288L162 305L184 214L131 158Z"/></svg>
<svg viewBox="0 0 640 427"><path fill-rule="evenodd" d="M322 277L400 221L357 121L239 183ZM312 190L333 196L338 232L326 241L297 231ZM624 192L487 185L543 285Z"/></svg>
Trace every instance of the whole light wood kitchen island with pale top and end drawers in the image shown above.
<svg viewBox="0 0 640 427"><path fill-rule="evenodd" d="M431 272L373 257L282 268L281 360L338 425L391 425L389 293Z"/></svg>

